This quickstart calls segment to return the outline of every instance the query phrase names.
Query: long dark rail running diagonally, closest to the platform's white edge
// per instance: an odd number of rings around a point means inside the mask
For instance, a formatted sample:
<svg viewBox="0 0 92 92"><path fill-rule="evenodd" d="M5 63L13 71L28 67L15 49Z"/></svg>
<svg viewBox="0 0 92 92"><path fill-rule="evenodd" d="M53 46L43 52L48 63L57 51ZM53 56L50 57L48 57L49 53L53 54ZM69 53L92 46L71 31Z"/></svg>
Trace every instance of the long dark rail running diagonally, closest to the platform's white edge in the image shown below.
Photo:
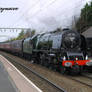
<svg viewBox="0 0 92 92"><path fill-rule="evenodd" d="M33 69L27 67L26 65L23 65L22 63L19 63L15 60L13 60L12 58L8 57L8 56L5 56L3 55L4 57L6 57L7 59L11 59L10 62L11 63L16 63L20 66L22 66L23 68L25 68L27 71L30 71L31 73L33 73L34 75L36 75L37 77L41 78L42 81L45 81L47 82L50 86L52 86L53 88L57 89L56 92L66 92L63 88L61 88L60 86L56 85L55 83L51 82L50 80L48 80L47 78L43 77L42 75L40 75L39 73L35 72Z"/></svg>

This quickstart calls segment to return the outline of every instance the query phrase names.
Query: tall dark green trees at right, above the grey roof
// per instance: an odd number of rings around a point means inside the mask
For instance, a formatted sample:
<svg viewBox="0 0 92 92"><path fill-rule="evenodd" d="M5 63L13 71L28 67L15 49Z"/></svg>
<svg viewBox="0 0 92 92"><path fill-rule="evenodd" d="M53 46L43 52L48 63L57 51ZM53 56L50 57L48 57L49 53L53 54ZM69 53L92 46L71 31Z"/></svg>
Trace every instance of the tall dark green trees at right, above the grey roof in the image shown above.
<svg viewBox="0 0 92 92"><path fill-rule="evenodd" d="M77 30L82 33L92 26L92 1L81 9L81 14L76 22Z"/></svg>

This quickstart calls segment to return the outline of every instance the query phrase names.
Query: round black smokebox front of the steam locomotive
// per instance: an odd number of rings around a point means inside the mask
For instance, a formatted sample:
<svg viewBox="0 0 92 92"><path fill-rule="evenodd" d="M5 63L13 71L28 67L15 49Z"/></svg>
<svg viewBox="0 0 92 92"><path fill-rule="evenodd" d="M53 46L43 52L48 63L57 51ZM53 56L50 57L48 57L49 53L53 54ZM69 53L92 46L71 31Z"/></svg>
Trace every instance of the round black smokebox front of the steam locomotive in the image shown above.
<svg viewBox="0 0 92 92"><path fill-rule="evenodd" d="M76 31L65 31L62 36L62 45L64 48L71 50L80 47L80 35Z"/></svg>

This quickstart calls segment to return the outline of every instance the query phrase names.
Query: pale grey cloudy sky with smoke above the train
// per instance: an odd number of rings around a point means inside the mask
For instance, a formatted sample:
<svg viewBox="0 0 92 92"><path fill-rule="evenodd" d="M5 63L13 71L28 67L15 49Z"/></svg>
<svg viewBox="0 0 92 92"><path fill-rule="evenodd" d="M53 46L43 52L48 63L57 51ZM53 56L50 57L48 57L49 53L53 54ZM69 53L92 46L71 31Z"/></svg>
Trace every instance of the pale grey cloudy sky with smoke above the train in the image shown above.
<svg viewBox="0 0 92 92"><path fill-rule="evenodd" d="M88 1L91 0L0 0L0 7L19 8L0 13L0 27L32 28L37 32L70 27L73 16L79 16L80 9ZM18 33L0 32L13 37Z"/></svg>

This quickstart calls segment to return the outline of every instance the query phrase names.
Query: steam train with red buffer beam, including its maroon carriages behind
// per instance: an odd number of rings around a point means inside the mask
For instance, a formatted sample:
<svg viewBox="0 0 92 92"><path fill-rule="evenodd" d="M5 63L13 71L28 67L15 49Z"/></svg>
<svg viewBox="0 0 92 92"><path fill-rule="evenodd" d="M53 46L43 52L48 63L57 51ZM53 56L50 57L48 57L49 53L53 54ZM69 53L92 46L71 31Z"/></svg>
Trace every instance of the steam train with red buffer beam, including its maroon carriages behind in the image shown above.
<svg viewBox="0 0 92 92"><path fill-rule="evenodd" d="M92 66L86 54L85 37L70 29L0 43L0 49L22 55L31 59L31 62L57 69L61 73L78 74L86 66Z"/></svg>

